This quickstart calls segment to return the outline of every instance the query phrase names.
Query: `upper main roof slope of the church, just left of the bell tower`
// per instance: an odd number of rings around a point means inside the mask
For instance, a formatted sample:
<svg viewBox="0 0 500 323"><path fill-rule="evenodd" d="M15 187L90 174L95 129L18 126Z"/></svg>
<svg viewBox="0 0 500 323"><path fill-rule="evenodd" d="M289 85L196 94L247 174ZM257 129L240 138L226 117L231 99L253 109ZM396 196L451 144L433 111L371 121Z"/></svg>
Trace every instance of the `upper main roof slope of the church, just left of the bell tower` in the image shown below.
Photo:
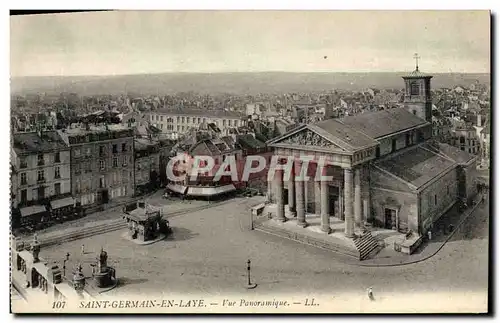
<svg viewBox="0 0 500 323"><path fill-rule="evenodd" d="M344 117L339 122L373 139L428 123L404 108L362 113Z"/></svg>

